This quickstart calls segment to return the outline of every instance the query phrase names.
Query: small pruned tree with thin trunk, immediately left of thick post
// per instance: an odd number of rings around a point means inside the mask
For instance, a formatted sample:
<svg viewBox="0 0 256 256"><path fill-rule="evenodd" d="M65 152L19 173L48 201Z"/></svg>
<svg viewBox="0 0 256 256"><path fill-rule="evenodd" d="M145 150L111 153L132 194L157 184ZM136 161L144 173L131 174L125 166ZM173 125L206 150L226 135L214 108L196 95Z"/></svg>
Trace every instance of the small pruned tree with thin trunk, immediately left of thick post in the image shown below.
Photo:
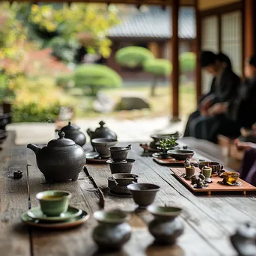
<svg viewBox="0 0 256 256"><path fill-rule="evenodd" d="M153 80L151 84L151 92L150 95L155 96L155 90L157 85L157 79L159 76L168 76L171 74L172 66L170 61L156 58L144 61L143 64L144 71L151 73L153 75Z"/></svg>

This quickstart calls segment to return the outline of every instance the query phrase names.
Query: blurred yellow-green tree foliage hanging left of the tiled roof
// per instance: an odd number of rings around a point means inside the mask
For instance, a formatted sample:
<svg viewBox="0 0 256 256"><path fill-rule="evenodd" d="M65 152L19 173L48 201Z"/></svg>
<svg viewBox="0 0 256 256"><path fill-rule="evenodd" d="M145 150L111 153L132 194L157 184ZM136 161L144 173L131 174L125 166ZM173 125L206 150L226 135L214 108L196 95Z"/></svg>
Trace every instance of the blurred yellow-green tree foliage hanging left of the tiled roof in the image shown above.
<svg viewBox="0 0 256 256"><path fill-rule="evenodd" d="M106 10L102 4L71 4L70 7L67 4L61 7L33 4L28 20L41 33L51 37L55 52L64 48L64 61L70 61L70 52L78 49L81 43L88 52L99 52L104 58L109 57L111 40L106 33L119 22L118 13L112 8ZM61 56L61 52L56 55Z"/></svg>

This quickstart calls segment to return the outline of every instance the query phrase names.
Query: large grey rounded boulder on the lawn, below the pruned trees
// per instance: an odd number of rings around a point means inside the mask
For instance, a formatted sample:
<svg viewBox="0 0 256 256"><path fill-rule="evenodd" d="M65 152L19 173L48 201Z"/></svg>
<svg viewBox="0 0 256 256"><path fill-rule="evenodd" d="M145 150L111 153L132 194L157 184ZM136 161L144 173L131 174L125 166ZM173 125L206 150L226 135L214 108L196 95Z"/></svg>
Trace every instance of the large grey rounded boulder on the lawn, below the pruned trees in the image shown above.
<svg viewBox="0 0 256 256"><path fill-rule="evenodd" d="M116 106L117 110L150 109L146 99L140 97L122 97Z"/></svg>

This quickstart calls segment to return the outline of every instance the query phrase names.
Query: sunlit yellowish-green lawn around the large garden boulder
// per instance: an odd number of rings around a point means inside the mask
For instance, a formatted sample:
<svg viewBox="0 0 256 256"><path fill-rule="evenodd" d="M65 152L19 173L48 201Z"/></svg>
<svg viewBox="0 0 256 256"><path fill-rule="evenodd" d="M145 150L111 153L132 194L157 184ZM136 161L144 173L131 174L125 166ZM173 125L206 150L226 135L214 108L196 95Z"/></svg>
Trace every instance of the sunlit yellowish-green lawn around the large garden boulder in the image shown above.
<svg viewBox="0 0 256 256"><path fill-rule="evenodd" d="M146 86L131 87L131 88L115 88L104 90L103 92L118 101L122 95L138 95L145 97L150 103L150 110L133 110L112 112L104 115L116 118L140 118L140 117L157 117L170 115L172 111L172 92L171 88L159 86L156 88L156 97L150 97L150 89ZM193 83L180 85L180 115L188 115L195 110L195 86ZM76 112L79 117L97 117L103 115L96 113L91 109L92 100L89 97L76 97L76 105L79 107Z"/></svg>

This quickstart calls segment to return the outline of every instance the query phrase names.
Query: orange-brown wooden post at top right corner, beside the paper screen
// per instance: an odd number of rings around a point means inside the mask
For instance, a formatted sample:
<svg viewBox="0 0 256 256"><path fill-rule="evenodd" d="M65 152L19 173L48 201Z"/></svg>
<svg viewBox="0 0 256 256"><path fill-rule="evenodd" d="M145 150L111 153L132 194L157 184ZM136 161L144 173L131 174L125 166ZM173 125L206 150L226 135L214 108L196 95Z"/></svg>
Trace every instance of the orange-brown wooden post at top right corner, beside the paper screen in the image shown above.
<svg viewBox="0 0 256 256"><path fill-rule="evenodd" d="M244 58L255 54L255 0L244 0Z"/></svg>

